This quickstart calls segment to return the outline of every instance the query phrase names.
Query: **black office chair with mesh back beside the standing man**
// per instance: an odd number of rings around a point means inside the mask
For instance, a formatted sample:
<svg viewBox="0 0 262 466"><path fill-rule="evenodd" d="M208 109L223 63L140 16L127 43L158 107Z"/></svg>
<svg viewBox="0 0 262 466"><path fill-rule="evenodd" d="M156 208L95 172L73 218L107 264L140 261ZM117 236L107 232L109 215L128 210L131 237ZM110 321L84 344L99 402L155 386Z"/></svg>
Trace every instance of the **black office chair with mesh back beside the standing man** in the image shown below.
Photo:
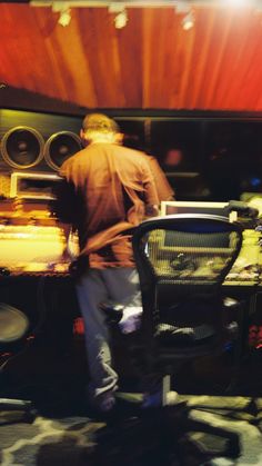
<svg viewBox="0 0 262 466"><path fill-rule="evenodd" d="M223 347L225 326L221 285L236 259L242 229L226 218L174 215L141 224L133 251L142 293L144 374L162 378L162 406L168 405L170 376L181 364L212 355ZM230 456L239 454L234 433L189 419L184 404L179 429L200 430L228 440ZM175 412L174 406L169 406Z"/></svg>

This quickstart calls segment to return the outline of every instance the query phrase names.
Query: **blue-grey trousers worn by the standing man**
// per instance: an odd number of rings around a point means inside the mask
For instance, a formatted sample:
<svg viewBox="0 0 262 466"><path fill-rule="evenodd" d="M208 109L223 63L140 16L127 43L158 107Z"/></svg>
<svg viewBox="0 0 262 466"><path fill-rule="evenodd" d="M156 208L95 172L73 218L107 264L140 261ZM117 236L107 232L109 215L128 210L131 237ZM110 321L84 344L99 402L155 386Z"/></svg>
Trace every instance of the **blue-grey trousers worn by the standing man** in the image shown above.
<svg viewBox="0 0 262 466"><path fill-rule="evenodd" d="M139 276L134 268L89 269L77 284L77 295L84 319L90 396L95 398L115 390L118 385L118 374L112 368L110 331L99 305L110 300L141 306Z"/></svg>

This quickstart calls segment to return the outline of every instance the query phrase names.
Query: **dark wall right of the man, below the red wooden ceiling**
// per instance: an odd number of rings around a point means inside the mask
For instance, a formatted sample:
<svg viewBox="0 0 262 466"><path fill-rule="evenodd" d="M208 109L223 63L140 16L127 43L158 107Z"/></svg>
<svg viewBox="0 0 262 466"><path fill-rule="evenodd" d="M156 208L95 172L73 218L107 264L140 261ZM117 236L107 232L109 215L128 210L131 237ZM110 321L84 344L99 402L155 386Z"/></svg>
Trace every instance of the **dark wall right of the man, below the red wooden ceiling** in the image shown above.
<svg viewBox="0 0 262 466"><path fill-rule="evenodd" d="M145 121L140 147L159 159L179 199L222 201L246 191L262 194L262 120L169 116ZM171 157L169 165L170 151L180 151L181 160L174 156L172 163Z"/></svg>

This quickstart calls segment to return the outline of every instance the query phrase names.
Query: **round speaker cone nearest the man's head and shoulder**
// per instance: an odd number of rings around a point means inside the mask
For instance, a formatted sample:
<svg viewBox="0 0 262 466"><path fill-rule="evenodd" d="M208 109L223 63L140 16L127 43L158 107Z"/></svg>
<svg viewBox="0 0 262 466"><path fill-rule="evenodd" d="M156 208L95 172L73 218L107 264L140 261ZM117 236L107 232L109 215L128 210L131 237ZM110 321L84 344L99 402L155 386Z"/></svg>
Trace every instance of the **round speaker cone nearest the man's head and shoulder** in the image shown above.
<svg viewBox="0 0 262 466"><path fill-rule="evenodd" d="M62 163L81 148L81 139L74 132L56 132L46 142L44 158L49 167L59 170Z"/></svg>

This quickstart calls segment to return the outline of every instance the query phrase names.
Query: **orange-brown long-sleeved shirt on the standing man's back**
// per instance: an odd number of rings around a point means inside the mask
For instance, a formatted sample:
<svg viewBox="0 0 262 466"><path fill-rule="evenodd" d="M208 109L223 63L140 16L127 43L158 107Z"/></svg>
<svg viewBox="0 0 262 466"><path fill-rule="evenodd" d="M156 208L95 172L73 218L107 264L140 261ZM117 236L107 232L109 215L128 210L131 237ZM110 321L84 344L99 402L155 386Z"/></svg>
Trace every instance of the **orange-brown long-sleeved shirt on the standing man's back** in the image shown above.
<svg viewBox="0 0 262 466"><path fill-rule="evenodd" d="M82 255L109 245L127 246L123 232L142 221L145 205L159 204L149 165L139 153L113 143L93 143L63 163L61 175L77 194L67 209L77 217ZM108 250L103 258L107 255L108 266L129 262L113 260Z"/></svg>

